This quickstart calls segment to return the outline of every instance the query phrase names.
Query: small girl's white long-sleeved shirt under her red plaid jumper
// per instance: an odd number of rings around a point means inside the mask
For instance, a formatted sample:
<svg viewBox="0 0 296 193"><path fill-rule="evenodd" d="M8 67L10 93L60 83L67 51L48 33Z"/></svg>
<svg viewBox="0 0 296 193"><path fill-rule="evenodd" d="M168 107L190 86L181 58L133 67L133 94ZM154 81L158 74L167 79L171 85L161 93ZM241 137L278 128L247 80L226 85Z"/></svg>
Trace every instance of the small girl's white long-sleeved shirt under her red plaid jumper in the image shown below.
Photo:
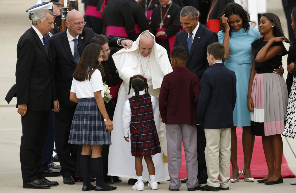
<svg viewBox="0 0 296 193"><path fill-rule="evenodd" d="M139 91L139 95L144 95L145 90ZM133 93L133 96L135 96L135 92ZM153 115L155 113L155 98L151 96L151 103L152 103L152 111ZM123 134L125 137L129 136L129 128L132 121L132 110L131 106L129 104L129 99L126 100L123 108L123 114L122 114L122 126L123 126Z"/></svg>

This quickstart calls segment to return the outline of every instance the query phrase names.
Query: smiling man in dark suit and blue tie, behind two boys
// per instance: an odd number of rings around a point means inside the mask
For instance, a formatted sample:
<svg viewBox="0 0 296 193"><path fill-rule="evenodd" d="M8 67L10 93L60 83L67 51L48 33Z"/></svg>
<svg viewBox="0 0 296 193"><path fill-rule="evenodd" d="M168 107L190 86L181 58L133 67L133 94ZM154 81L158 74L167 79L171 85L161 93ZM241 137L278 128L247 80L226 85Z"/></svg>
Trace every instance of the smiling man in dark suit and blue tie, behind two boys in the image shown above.
<svg viewBox="0 0 296 193"><path fill-rule="evenodd" d="M207 61L207 46L213 42L218 42L218 36L215 32L205 28L198 22L197 10L192 6L185 6L180 12L180 22L183 31L176 34L176 46L183 46L188 59L186 67L189 71L196 74L201 80L202 74L210 68ZM197 153L198 153L198 178L199 183L206 183L207 166L205 162L205 132L203 125L197 128ZM187 179L182 180L185 183Z"/></svg>

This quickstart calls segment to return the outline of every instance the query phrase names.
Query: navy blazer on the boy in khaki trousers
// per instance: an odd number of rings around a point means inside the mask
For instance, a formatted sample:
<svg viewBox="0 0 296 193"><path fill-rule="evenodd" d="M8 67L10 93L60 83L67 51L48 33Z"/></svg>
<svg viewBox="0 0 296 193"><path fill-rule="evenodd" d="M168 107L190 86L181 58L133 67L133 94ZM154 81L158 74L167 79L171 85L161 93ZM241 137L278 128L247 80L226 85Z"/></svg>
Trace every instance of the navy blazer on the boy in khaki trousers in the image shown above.
<svg viewBox="0 0 296 193"><path fill-rule="evenodd" d="M237 98L235 73L223 63L215 63L202 77L196 123L204 122L207 129L233 127L232 113Z"/></svg>

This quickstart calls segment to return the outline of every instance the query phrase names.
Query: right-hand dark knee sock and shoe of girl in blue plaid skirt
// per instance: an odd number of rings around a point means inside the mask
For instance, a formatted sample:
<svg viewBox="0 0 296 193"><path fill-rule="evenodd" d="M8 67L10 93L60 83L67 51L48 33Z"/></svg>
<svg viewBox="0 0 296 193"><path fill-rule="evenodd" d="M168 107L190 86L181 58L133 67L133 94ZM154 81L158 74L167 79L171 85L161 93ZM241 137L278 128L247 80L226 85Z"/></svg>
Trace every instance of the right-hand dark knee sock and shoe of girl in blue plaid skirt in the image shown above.
<svg viewBox="0 0 296 193"><path fill-rule="evenodd" d="M111 189L112 186L109 186L103 180L102 157L91 158L91 165L94 170L94 176L96 177L96 183L97 183L96 186L103 189Z"/></svg>

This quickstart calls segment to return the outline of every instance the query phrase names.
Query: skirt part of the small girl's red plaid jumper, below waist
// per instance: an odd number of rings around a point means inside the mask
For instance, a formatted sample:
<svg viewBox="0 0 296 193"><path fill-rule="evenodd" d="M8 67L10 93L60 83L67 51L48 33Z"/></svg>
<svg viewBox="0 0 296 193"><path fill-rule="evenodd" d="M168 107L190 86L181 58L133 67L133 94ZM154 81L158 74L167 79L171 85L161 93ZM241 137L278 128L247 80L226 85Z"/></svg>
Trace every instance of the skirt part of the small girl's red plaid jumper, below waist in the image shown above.
<svg viewBox="0 0 296 193"><path fill-rule="evenodd" d="M154 123L131 125L132 156L150 156L161 152Z"/></svg>

